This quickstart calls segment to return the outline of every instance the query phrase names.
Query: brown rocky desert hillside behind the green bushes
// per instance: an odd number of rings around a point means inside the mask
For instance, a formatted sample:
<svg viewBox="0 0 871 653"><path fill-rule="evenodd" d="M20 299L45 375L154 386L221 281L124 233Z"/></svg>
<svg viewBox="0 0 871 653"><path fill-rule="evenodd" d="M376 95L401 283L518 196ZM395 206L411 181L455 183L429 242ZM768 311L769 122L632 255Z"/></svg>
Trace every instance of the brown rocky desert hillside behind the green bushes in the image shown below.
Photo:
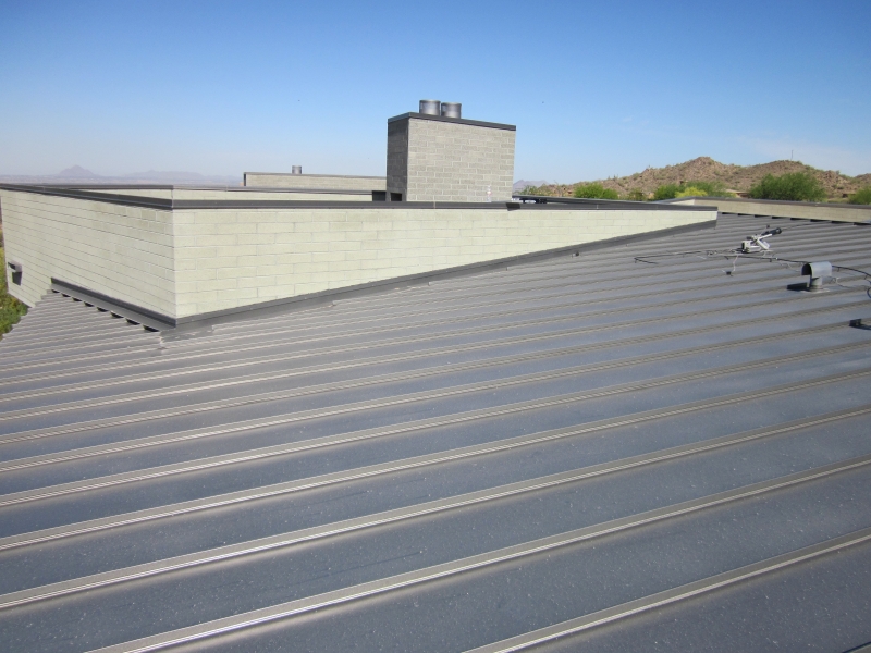
<svg viewBox="0 0 871 653"><path fill-rule="evenodd" d="M871 185L871 173L860 176L847 176L834 170L818 170L810 165L805 165L800 161L772 161L771 163L760 163L759 165L733 165L731 163L720 163L710 157L699 157L691 161L666 165L665 168L648 168L643 172L612 177L608 180L596 180L605 188L613 188L621 196L626 195L633 189L643 193L653 193L659 186L664 184L679 184L682 182L722 182L727 188L739 193L747 192L750 186L759 182L766 174L781 175L787 172L810 172L822 182L823 187L832 200L843 199L859 188ZM575 187L590 182L578 182L577 184L561 184L545 186L550 194L567 196L572 195Z"/></svg>

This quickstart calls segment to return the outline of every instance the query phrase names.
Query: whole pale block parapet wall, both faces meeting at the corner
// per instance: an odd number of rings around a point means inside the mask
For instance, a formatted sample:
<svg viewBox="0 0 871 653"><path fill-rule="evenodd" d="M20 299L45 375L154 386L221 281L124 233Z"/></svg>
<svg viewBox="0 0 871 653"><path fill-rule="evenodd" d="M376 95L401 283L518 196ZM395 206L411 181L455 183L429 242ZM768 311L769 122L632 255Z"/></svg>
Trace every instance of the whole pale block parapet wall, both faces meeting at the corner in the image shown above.
<svg viewBox="0 0 871 653"><path fill-rule="evenodd" d="M52 279L158 313L193 316L671 227L715 210L616 202L289 202L135 198L0 187L10 292Z"/></svg>

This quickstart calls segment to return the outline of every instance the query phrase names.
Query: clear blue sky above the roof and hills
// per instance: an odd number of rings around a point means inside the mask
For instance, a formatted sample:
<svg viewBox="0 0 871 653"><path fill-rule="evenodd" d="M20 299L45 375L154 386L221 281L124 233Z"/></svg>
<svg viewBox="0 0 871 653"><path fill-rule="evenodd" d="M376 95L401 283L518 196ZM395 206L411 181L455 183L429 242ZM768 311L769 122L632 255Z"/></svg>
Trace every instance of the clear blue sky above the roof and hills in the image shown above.
<svg viewBox="0 0 871 653"><path fill-rule="evenodd" d="M869 0L0 0L0 173L382 175L387 119L436 98L517 125L515 178L860 174L869 25Z"/></svg>

